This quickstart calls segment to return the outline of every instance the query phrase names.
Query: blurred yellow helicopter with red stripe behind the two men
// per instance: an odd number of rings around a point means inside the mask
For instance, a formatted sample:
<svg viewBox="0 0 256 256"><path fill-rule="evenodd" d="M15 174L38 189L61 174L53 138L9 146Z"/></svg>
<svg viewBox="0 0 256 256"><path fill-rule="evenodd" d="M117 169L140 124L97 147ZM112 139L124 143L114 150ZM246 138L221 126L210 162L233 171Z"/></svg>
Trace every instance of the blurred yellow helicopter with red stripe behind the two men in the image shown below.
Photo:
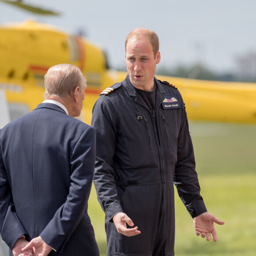
<svg viewBox="0 0 256 256"><path fill-rule="evenodd" d="M74 64L87 78L79 118L88 124L102 90L126 76L126 72L109 69L104 51L86 38L31 20L0 26L0 56L0 90L10 120L43 101L44 75L55 64ZM189 119L256 124L256 84L156 77L178 87Z"/></svg>

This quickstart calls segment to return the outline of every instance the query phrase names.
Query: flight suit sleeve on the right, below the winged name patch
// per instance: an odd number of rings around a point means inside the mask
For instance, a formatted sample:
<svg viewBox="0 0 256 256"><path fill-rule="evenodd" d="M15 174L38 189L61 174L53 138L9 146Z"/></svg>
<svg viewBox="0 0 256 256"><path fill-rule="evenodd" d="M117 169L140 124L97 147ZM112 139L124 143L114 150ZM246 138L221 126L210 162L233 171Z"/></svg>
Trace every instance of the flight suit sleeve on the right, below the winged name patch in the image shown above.
<svg viewBox="0 0 256 256"><path fill-rule="evenodd" d="M181 126L177 143L177 164L175 166L174 184L178 194L192 218L207 211L200 195L200 185L196 173L195 156L192 140L188 130L185 107L182 108Z"/></svg>

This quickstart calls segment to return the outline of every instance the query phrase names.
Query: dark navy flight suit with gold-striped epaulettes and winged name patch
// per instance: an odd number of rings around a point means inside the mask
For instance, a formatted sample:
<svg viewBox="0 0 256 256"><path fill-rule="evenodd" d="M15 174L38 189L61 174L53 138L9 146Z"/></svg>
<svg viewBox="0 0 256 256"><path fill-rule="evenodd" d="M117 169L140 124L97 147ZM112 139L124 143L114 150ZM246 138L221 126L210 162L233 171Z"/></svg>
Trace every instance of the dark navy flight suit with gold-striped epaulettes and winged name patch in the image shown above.
<svg viewBox="0 0 256 256"><path fill-rule="evenodd" d="M154 83L153 112L128 75L94 105L94 184L105 211L108 256L174 255L173 183L193 218L207 211L181 94L167 82L154 78ZM127 214L141 234L118 233L112 220L118 212Z"/></svg>

